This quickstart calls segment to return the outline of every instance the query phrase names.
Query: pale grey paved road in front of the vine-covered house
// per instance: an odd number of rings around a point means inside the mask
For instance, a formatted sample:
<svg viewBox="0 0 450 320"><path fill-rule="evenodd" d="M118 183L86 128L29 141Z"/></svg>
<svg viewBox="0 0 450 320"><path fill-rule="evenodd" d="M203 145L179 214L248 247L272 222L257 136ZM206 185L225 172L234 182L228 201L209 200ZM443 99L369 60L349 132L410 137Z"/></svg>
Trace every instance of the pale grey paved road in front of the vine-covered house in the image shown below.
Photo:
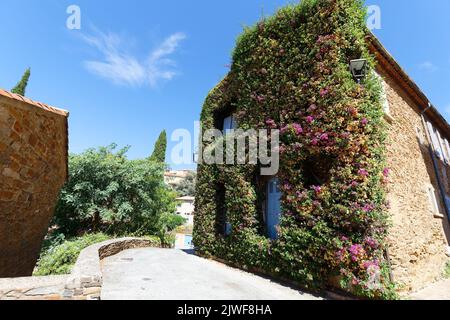
<svg viewBox="0 0 450 320"><path fill-rule="evenodd" d="M310 294L180 250L133 249L103 260L102 300L312 300Z"/></svg>

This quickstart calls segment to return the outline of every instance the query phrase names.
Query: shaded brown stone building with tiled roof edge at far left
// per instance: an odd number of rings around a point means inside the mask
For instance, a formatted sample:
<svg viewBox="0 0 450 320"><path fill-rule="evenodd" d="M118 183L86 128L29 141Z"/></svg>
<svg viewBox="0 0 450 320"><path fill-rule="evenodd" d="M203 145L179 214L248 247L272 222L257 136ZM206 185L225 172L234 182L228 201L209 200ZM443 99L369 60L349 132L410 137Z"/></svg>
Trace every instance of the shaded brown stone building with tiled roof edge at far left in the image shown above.
<svg viewBox="0 0 450 320"><path fill-rule="evenodd" d="M33 272L68 176L68 115L0 90L0 278Z"/></svg>

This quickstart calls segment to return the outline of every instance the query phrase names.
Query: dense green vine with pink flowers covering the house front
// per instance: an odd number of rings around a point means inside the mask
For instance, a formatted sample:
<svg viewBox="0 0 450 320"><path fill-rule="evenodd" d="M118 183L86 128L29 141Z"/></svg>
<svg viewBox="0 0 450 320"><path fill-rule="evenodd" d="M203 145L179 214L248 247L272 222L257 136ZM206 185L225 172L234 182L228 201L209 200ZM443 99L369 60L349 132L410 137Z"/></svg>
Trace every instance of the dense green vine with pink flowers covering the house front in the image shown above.
<svg viewBox="0 0 450 320"><path fill-rule="evenodd" d="M393 296L381 87L371 72L359 85L349 71L351 59L374 67L365 15L360 0L303 0L239 37L231 71L206 98L202 128L218 128L233 113L239 128L280 130L282 220L278 239L269 240L259 166L200 164L194 243L201 255L306 288L334 283Z"/></svg>

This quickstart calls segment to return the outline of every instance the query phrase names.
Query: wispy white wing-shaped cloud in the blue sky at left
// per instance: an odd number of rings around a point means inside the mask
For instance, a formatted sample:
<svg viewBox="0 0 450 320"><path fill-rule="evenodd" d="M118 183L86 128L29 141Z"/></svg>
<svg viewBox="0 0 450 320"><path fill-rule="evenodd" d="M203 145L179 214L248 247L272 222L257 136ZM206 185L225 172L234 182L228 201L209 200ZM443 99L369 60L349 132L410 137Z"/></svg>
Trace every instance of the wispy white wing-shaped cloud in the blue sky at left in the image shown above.
<svg viewBox="0 0 450 320"><path fill-rule="evenodd" d="M169 56L186 35L172 34L142 60L128 53L123 39L116 34L97 31L96 36L84 35L82 38L103 55L101 61L84 61L89 72L119 85L155 87L160 81L171 80L177 75L176 63Z"/></svg>

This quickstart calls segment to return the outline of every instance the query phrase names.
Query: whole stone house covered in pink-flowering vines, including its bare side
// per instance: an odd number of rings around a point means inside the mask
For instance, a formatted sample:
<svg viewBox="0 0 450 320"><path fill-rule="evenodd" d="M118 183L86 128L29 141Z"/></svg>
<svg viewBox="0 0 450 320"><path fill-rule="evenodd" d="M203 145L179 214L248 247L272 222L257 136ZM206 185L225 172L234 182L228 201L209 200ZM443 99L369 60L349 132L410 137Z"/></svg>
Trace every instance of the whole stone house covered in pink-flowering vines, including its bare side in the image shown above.
<svg viewBox="0 0 450 320"><path fill-rule="evenodd" d="M372 298L441 276L450 126L364 17L359 1L302 1L238 39L202 128L278 130L280 170L199 164L200 254ZM361 58L363 80L349 66Z"/></svg>

